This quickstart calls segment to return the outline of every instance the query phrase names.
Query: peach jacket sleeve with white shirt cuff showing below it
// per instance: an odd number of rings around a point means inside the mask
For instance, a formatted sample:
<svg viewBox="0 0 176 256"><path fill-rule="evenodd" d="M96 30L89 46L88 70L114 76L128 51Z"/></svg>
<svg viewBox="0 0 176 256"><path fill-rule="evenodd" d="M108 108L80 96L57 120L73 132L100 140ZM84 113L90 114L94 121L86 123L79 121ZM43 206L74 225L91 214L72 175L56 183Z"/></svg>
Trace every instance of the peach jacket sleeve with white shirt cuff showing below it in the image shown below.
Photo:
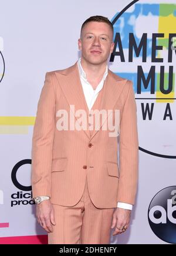
<svg viewBox="0 0 176 256"><path fill-rule="evenodd" d="M134 205L138 180L137 106L133 83L127 80L128 93L120 118L120 179L117 202Z"/></svg>

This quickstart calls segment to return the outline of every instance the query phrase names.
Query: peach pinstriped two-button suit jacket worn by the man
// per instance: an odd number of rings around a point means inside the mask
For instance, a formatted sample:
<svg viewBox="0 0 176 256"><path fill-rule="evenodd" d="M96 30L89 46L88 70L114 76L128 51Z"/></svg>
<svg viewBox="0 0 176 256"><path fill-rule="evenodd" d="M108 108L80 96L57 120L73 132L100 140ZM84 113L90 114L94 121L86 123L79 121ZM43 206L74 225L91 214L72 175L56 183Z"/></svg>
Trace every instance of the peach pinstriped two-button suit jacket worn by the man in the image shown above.
<svg viewBox="0 0 176 256"><path fill-rule="evenodd" d="M97 208L116 208L117 202L133 205L138 179L133 83L108 69L103 89L92 107L92 110L120 110L119 144L118 136L110 137L110 131L102 129L106 119L99 129L94 127L92 131L58 130L56 113L63 109L73 115L70 105L74 105L75 112L86 111L88 118L77 62L45 76L32 137L33 198L48 195L52 204L74 206L83 195L87 176L90 198ZM80 122L78 116L73 119Z"/></svg>

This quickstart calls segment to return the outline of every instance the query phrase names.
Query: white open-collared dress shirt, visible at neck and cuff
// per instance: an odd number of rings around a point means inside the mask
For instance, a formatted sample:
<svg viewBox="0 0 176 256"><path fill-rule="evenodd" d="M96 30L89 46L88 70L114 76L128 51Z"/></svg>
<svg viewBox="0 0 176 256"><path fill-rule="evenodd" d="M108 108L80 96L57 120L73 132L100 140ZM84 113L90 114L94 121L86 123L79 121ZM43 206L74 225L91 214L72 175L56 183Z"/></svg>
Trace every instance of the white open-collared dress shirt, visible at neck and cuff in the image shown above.
<svg viewBox="0 0 176 256"><path fill-rule="evenodd" d="M86 73L84 72L80 61L81 61L81 58L79 58L79 60L77 61L77 66L78 66L79 74L80 74L80 81L82 83L84 97L86 99L87 107L90 110L90 109L92 109L94 101L97 99L99 92L103 88L104 80L106 79L107 74L108 74L108 67L106 65L106 71L104 72L103 78L101 79L100 83L96 87L96 90L93 90L92 85L87 81ZM133 205L123 203L123 202L118 202L117 207L132 210Z"/></svg>

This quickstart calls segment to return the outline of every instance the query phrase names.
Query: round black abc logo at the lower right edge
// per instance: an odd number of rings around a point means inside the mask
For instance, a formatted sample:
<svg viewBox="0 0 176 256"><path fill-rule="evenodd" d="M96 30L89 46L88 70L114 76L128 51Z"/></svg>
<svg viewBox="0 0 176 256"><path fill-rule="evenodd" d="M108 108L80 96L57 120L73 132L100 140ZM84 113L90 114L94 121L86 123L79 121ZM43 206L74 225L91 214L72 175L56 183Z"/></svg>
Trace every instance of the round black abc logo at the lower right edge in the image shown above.
<svg viewBox="0 0 176 256"><path fill-rule="evenodd" d="M176 244L176 186L158 192L148 208L148 222L154 234Z"/></svg>

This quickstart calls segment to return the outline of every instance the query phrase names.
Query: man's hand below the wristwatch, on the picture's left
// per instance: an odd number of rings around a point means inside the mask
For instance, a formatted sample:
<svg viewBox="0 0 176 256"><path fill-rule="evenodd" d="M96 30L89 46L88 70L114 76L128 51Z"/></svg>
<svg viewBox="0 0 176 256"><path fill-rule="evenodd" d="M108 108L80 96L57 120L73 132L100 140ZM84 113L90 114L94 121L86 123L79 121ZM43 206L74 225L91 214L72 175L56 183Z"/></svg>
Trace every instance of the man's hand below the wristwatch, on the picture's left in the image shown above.
<svg viewBox="0 0 176 256"><path fill-rule="evenodd" d="M48 233L53 232L52 225L56 225L56 223L55 213L50 199L36 205L36 217L42 228L44 228Z"/></svg>

